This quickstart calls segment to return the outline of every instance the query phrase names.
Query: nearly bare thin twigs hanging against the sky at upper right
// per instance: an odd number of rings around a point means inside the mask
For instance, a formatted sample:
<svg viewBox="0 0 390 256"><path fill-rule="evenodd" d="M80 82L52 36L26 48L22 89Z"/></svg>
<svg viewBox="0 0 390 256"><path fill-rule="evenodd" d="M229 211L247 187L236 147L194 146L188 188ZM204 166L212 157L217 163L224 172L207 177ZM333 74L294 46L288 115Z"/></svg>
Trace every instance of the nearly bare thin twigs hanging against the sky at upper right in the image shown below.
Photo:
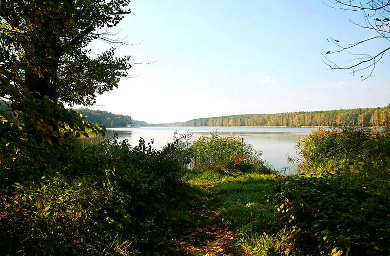
<svg viewBox="0 0 390 256"><path fill-rule="evenodd" d="M373 76L375 67L381 61L386 52L390 50L390 0L329 0L328 6L334 9L345 11L361 12L364 22L352 21L356 26L372 32L372 36L357 40L350 44L340 42L334 38L327 39L328 42L336 45L334 51L323 51L321 59L331 70L350 70L352 74L367 70L367 74L361 75L362 80ZM382 48L376 46L384 45ZM368 49L370 52L367 52ZM372 50L372 51L371 51ZM335 61L334 54L347 54L349 61L340 64Z"/></svg>

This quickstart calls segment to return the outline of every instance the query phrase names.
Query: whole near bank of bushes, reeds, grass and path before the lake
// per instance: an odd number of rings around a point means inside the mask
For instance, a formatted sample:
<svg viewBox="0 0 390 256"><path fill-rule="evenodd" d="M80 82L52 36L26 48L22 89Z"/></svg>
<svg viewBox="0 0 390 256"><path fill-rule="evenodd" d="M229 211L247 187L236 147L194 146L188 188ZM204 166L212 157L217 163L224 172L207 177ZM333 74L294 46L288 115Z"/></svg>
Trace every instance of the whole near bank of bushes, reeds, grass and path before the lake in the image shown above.
<svg viewBox="0 0 390 256"><path fill-rule="evenodd" d="M314 130L297 143L289 161L298 174L290 176L240 138L211 135L192 142L191 133L176 134L162 150L153 140L132 147L114 136L74 139L49 155L2 153L0 250L390 253L388 129Z"/></svg>

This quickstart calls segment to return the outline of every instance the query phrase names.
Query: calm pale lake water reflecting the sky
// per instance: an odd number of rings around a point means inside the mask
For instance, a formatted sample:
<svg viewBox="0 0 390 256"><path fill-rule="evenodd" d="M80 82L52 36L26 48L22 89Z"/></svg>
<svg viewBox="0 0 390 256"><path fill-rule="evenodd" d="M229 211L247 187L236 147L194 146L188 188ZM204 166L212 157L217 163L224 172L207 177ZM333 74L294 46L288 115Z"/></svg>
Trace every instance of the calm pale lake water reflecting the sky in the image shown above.
<svg viewBox="0 0 390 256"><path fill-rule="evenodd" d="M312 128L257 128L257 127L140 127L140 128L107 128L107 138L112 138L115 132L120 140L127 139L133 146L138 145L139 138L150 142L153 138L154 148L161 149L168 142L173 141L174 132L193 133L193 137L208 135L210 131L222 136L239 136L246 143L262 151L262 158L275 168L289 166L286 154L295 156L295 140L308 134Z"/></svg>

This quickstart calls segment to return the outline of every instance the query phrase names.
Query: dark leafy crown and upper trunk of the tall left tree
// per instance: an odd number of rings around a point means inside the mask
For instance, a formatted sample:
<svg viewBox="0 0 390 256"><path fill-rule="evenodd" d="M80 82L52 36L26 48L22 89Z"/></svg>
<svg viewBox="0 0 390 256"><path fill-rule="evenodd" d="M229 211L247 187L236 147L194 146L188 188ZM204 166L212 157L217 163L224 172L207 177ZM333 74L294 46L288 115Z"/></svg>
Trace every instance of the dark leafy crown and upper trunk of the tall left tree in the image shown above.
<svg viewBox="0 0 390 256"><path fill-rule="evenodd" d="M128 76L130 56L115 57L123 44L108 28L130 13L129 0L1 1L0 70L15 87L73 104L91 105L97 94ZM88 45L111 49L92 57Z"/></svg>

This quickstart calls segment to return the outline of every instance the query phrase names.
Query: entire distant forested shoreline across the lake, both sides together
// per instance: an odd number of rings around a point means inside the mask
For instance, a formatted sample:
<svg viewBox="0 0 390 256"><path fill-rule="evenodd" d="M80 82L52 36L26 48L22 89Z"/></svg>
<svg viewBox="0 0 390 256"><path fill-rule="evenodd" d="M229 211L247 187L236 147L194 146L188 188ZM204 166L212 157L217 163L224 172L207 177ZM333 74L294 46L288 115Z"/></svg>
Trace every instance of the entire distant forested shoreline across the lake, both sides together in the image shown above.
<svg viewBox="0 0 390 256"><path fill-rule="evenodd" d="M131 116L101 110L77 109L77 111L87 116L88 121L103 124L106 128L126 127L126 124L141 127L385 128L390 124L390 104L383 108L241 114L164 124L148 124L144 121L132 120Z"/></svg>

